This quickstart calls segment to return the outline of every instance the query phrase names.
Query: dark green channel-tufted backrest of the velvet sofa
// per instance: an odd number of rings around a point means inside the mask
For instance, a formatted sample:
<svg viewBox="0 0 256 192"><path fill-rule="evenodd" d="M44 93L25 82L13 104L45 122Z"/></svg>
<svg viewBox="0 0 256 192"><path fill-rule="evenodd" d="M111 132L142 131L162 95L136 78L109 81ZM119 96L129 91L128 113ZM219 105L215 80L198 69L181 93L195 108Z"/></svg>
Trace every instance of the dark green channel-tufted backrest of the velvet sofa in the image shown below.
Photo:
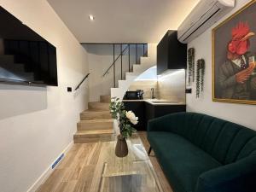
<svg viewBox="0 0 256 192"><path fill-rule="evenodd" d="M177 134L189 139L222 164L256 154L256 131L201 113L177 113Z"/></svg>

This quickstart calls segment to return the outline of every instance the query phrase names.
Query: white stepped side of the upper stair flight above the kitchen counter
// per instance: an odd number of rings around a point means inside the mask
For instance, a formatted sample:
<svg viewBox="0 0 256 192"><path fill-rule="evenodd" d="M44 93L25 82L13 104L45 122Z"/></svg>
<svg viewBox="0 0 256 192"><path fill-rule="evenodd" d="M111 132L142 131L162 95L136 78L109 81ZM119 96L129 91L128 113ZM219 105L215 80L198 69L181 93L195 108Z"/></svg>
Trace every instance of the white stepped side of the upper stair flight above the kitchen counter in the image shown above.
<svg viewBox="0 0 256 192"><path fill-rule="evenodd" d="M119 80L118 88L111 88L111 97L118 97L123 99L126 90L129 89L130 84L137 79L137 77L145 72L148 68L156 65L156 45L148 44L148 56L140 57L140 64L133 64L132 72L125 73L125 80Z"/></svg>

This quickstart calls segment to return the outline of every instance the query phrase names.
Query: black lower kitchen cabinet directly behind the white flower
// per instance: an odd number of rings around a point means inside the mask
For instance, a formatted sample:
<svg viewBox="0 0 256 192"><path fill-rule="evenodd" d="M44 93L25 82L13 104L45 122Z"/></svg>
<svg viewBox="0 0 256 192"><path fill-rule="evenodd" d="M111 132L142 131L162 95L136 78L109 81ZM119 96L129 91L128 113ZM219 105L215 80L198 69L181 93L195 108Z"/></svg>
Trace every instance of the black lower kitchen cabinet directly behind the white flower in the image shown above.
<svg viewBox="0 0 256 192"><path fill-rule="evenodd" d="M143 101L137 101L137 102L124 102L125 104L125 110L126 111L132 111L135 113L135 115L138 117L138 124L134 125L134 128L137 129L137 131L145 131L146 125L144 121L144 102Z"/></svg>

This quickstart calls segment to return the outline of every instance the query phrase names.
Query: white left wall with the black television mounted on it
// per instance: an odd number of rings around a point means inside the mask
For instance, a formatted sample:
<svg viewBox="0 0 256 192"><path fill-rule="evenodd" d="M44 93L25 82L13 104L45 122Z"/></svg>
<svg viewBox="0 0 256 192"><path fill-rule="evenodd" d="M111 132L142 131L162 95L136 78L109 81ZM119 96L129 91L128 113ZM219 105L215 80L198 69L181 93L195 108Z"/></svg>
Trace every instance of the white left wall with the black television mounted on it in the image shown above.
<svg viewBox="0 0 256 192"><path fill-rule="evenodd" d="M87 106L88 85L67 93L88 72L87 55L46 0L0 0L57 51L58 87L0 84L0 190L23 192L69 143Z"/></svg>

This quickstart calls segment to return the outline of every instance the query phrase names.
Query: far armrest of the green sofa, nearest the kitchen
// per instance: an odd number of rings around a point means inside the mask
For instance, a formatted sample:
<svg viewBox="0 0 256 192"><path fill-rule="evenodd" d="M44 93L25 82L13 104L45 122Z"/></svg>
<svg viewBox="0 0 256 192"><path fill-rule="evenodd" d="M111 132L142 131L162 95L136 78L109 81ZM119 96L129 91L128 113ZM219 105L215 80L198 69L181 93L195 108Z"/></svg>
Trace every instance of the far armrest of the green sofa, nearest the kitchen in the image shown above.
<svg viewBox="0 0 256 192"><path fill-rule="evenodd" d="M174 131L185 125L186 113L171 113L148 121L148 131Z"/></svg>

